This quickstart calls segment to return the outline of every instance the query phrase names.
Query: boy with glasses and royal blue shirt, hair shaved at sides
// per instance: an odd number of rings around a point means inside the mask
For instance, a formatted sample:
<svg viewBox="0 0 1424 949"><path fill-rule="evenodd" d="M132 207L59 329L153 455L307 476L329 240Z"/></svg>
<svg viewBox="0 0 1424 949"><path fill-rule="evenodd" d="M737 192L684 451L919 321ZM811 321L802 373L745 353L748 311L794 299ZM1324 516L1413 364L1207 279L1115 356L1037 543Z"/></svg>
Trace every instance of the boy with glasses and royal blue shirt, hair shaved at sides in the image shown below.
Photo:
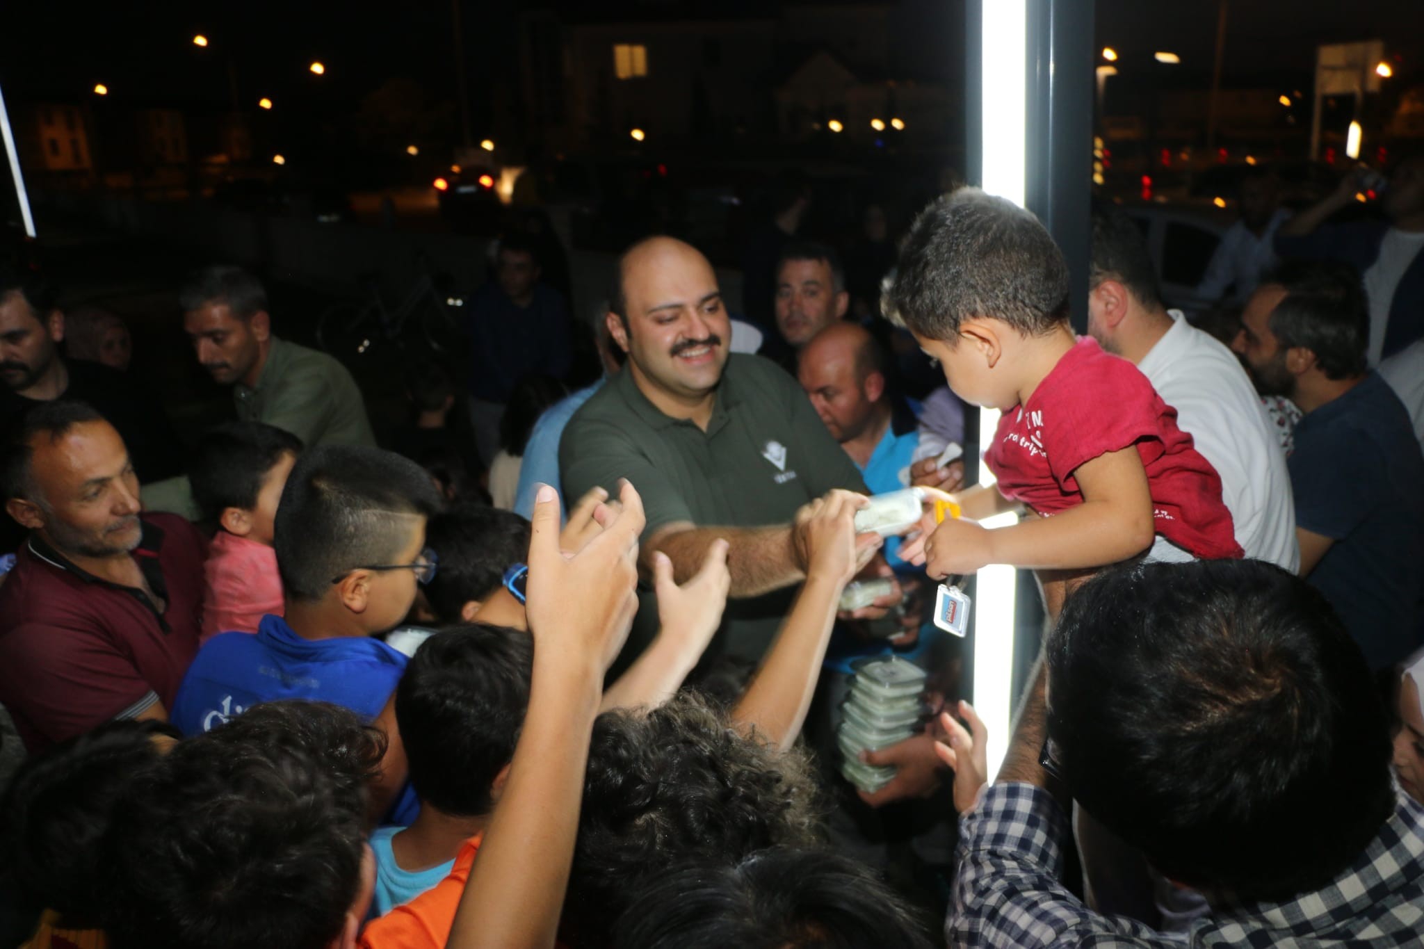
<svg viewBox="0 0 1424 949"><path fill-rule="evenodd" d="M198 734L275 699L330 701L373 721L406 669L406 657L373 636L399 625L416 586L434 575L426 519L439 508L429 475L394 452L323 445L303 454L273 525L286 616L265 616L256 636L208 640L171 721Z"/></svg>

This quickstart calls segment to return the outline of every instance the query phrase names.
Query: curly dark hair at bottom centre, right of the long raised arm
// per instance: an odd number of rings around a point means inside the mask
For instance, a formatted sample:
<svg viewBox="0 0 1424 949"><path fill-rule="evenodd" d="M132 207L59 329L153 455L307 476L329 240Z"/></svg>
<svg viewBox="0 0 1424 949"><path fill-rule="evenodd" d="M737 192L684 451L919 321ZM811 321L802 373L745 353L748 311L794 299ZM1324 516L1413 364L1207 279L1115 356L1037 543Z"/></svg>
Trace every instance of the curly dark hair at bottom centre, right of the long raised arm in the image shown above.
<svg viewBox="0 0 1424 949"><path fill-rule="evenodd" d="M686 862L736 864L820 837L809 757L748 738L702 697L594 723L561 925L597 949L648 884Z"/></svg>

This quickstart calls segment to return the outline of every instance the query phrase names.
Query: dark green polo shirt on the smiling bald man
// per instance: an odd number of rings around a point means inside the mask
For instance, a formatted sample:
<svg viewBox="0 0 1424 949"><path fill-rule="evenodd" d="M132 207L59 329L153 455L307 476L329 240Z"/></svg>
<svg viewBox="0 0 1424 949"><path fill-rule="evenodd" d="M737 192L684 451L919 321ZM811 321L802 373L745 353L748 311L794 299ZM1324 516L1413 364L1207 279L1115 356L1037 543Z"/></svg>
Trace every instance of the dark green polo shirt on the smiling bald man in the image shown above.
<svg viewBox="0 0 1424 949"><path fill-rule="evenodd" d="M789 524L797 508L832 488L866 489L796 380L770 360L738 353L728 359L705 433L662 414L625 369L570 420L558 464L570 502L595 485L617 492L618 479L628 478L648 512L644 541L678 521ZM639 592L646 606L652 595ZM760 659L793 595L731 600L709 656ZM651 637L651 613L639 610L635 645Z"/></svg>

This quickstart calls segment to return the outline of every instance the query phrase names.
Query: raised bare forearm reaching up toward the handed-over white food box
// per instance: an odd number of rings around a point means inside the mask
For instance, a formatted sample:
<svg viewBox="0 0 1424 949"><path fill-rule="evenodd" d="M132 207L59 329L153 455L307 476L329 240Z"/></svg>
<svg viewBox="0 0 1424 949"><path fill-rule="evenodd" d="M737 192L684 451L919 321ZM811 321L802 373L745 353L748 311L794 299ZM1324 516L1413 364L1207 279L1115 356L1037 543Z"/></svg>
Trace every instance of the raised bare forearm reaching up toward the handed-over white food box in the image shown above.
<svg viewBox="0 0 1424 949"><path fill-rule="evenodd" d="M732 710L732 720L742 728L756 728L782 750L790 747L806 720L842 589L819 576L806 580L766 662Z"/></svg>

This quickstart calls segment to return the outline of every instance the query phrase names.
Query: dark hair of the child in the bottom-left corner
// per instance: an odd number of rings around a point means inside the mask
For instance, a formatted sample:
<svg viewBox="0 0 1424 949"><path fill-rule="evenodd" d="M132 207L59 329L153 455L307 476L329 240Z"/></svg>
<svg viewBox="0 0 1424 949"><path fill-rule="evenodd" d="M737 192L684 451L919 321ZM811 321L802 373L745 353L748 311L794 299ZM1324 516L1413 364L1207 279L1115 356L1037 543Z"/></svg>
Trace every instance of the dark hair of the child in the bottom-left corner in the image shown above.
<svg viewBox="0 0 1424 949"><path fill-rule="evenodd" d="M26 761L0 802L0 881L31 911L53 909L70 929L98 926L95 852L114 807L162 757L167 721L101 724Z"/></svg>

